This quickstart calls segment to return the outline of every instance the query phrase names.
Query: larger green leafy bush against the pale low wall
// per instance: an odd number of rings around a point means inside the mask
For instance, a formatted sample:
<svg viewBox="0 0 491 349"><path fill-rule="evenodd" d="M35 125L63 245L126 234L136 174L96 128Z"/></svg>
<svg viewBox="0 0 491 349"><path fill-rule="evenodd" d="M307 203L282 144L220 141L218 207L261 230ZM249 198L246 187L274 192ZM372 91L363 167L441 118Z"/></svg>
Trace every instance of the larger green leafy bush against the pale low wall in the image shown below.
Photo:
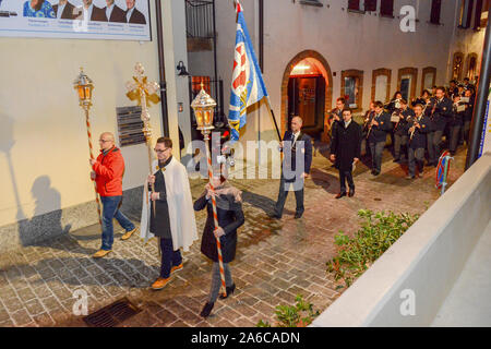
<svg viewBox="0 0 491 349"><path fill-rule="evenodd" d="M343 279L349 287L363 274L418 218L419 215L373 213L360 209L363 219L354 238L343 231L334 237L338 255L326 263L327 272L334 273L336 280Z"/></svg>

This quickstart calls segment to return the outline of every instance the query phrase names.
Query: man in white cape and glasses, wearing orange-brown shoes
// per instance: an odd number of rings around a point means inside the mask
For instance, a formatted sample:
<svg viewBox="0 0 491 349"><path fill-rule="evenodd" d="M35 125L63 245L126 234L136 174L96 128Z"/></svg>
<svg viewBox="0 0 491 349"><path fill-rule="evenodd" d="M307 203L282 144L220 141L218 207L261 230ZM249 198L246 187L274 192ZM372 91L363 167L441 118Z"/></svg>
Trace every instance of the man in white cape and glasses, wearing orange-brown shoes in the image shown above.
<svg viewBox="0 0 491 349"><path fill-rule="evenodd" d="M155 145L157 160L143 192L141 237L146 241L159 239L161 252L160 276L152 285L163 289L172 272L182 269L180 248L189 251L197 240L193 201L185 167L172 157L172 141L160 137ZM154 184L154 192L151 185Z"/></svg>

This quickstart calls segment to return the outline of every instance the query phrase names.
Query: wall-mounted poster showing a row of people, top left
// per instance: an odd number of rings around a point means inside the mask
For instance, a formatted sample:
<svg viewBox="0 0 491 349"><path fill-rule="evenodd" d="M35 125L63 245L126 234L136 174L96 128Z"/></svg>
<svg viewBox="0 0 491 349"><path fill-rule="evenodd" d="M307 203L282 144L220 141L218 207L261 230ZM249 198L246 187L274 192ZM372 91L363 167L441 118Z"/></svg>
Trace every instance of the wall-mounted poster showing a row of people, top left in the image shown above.
<svg viewBox="0 0 491 349"><path fill-rule="evenodd" d="M148 0L0 0L0 36L149 41Z"/></svg>

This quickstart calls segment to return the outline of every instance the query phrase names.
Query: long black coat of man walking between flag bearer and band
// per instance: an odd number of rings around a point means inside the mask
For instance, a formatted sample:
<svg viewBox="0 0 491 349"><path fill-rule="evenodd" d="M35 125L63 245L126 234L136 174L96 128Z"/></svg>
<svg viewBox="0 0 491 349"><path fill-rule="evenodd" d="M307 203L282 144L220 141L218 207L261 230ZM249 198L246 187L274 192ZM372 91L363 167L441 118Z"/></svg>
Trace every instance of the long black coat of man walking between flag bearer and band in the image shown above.
<svg viewBox="0 0 491 349"><path fill-rule="evenodd" d="M342 171L352 169L354 158L360 158L361 154L361 127L354 120L345 128L340 123L333 134L331 154L336 155L335 166Z"/></svg>

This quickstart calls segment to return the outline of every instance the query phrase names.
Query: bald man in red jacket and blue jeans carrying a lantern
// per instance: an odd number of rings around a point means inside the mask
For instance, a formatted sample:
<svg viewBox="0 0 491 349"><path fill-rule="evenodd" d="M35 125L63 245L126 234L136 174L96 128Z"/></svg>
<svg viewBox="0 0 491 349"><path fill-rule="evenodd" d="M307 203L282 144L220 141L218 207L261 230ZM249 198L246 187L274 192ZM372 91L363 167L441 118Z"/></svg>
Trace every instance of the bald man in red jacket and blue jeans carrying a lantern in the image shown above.
<svg viewBox="0 0 491 349"><path fill-rule="evenodd" d="M127 231L122 240L127 240L136 230L135 226L120 210L122 198L122 177L124 173L124 159L115 145L115 136L104 132L99 137L100 155L97 160L89 159L92 165L92 179L96 181L97 192L103 203L103 245L94 254L100 258L111 252L113 242L112 219L116 218Z"/></svg>

